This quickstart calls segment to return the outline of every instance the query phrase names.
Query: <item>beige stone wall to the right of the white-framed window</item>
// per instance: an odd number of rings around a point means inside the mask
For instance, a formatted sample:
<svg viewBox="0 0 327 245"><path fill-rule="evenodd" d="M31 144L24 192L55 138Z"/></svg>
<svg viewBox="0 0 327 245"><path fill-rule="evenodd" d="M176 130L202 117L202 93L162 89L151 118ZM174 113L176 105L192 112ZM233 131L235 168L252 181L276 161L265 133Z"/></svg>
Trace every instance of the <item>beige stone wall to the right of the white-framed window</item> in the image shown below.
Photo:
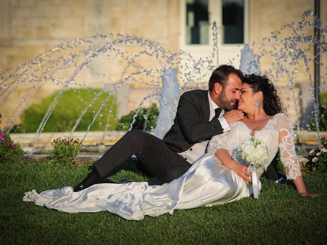
<svg viewBox="0 0 327 245"><path fill-rule="evenodd" d="M320 18L321 21L326 25L327 23L327 2L320 1ZM271 32L275 34L277 31L281 31L281 28L285 24L293 23L295 29L298 27L298 22L301 21L300 16L306 10L314 10L313 0L293 0L293 1L281 1L281 0L253 0L250 1L250 41L249 43L255 43L252 48L255 52L260 50L260 44L266 37L271 37ZM313 21L313 18L308 18ZM296 30L298 33L307 35L313 35L314 28L307 27L303 31ZM280 36L287 38L293 32L291 28L285 28L281 31ZM278 35L278 34L277 34ZM281 52L284 51L285 42L273 42L271 40L270 46L265 44L267 50L274 50L277 47L281 48ZM261 46L262 48L263 46ZM303 44L302 49L308 48L309 51L306 53L308 59L314 57L314 48L312 44ZM327 54L324 53L320 57L321 63L320 74L326 74L325 65L327 64ZM274 57L268 55L261 59L261 70L269 70L271 64L275 61ZM285 66L286 69L294 71L294 67ZM300 126L305 126L310 122L312 117L312 107L308 107L309 103L312 102L310 79L314 80L314 65L313 62L309 62L309 70L311 77L306 72L305 63L303 59L299 59L297 66L297 74L292 85L286 73L274 76L273 81L276 82L279 90L279 94L282 97L284 105L287 107L288 115L291 117L293 124L295 120L301 119ZM325 78L321 79L320 91L327 91ZM294 101L295 98L295 101Z"/></svg>

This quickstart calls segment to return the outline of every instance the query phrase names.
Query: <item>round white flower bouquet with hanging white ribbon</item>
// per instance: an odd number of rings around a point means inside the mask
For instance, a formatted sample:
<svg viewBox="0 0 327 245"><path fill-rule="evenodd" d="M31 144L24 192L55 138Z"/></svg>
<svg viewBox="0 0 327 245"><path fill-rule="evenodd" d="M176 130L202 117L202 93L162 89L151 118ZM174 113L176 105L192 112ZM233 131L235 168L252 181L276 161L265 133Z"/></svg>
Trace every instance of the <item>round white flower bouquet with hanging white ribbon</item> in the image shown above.
<svg viewBox="0 0 327 245"><path fill-rule="evenodd" d="M261 140L252 136L251 139L239 145L236 156L249 164L248 171L252 173L252 182L248 183L248 187L251 187L253 183L253 196L255 199L258 199L260 190L256 168L266 166L268 162L267 146Z"/></svg>

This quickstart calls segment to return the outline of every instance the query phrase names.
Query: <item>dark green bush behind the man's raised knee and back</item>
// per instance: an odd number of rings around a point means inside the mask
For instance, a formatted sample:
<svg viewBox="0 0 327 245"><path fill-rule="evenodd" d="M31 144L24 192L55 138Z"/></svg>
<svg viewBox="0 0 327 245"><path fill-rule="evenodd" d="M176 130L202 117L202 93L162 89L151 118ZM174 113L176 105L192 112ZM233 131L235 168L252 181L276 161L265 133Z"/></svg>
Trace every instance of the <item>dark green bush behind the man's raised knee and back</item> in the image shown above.
<svg viewBox="0 0 327 245"><path fill-rule="evenodd" d="M116 125L116 130L129 130L133 120L133 116L136 111L132 111L130 114L122 116L121 119L118 121L118 124ZM159 110L155 103L153 103L150 108L141 107L136 115L135 122L132 128L145 131L152 131L157 125L158 114Z"/></svg>

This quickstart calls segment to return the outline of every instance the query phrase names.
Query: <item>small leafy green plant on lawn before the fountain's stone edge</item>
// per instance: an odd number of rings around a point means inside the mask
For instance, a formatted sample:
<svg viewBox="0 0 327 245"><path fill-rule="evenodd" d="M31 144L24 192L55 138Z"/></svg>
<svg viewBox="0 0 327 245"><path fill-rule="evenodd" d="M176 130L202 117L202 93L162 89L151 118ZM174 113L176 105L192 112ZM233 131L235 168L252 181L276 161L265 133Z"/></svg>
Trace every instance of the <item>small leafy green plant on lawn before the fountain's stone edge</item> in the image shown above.
<svg viewBox="0 0 327 245"><path fill-rule="evenodd" d="M78 151L81 148L79 139L55 139L52 143L54 148L50 153L51 162L57 162L61 164L74 163L74 157L76 157Z"/></svg>

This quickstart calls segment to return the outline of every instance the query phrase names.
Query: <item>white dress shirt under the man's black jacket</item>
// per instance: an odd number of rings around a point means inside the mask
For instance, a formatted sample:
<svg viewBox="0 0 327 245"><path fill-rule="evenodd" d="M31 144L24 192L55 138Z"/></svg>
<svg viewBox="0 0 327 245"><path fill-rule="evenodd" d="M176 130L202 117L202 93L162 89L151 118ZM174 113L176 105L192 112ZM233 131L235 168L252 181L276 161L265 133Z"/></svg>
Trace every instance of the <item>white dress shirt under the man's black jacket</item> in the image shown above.
<svg viewBox="0 0 327 245"><path fill-rule="evenodd" d="M209 106L210 106L210 116L209 121L211 121L215 116L215 110L219 108L215 102L211 99L209 92L208 92L208 98L209 98ZM222 110L220 113L219 118L217 118L221 124L221 127L223 128L224 132L230 130L230 127L228 125L227 120L223 117L225 111ZM199 157L201 157L204 153L206 153L206 148L209 140L201 141L199 143L195 143L189 150L186 150L184 152L178 153L180 156L182 156L186 161L193 164Z"/></svg>

